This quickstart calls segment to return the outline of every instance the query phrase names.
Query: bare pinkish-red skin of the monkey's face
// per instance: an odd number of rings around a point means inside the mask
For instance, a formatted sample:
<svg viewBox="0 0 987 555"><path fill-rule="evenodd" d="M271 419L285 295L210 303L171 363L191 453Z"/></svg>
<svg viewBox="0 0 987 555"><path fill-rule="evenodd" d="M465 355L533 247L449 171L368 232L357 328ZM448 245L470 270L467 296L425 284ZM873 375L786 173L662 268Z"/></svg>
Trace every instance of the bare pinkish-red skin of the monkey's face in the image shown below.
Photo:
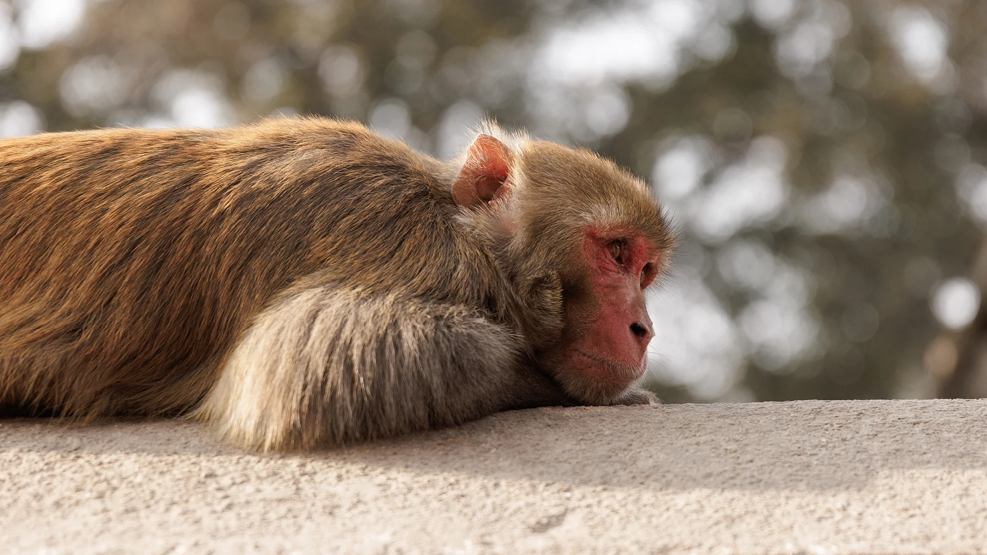
<svg viewBox="0 0 987 555"><path fill-rule="evenodd" d="M598 310L585 335L569 347L566 364L617 394L645 373L645 352L654 337L645 287L657 275L660 253L640 234L592 230L583 253Z"/></svg>

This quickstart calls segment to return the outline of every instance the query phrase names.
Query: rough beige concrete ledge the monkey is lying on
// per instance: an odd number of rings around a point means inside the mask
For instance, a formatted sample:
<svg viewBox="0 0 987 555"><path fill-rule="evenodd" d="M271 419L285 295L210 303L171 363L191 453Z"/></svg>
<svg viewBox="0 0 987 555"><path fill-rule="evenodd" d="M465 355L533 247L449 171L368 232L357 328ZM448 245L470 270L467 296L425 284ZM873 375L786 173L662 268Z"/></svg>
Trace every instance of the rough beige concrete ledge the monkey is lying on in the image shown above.
<svg viewBox="0 0 987 555"><path fill-rule="evenodd" d="M0 420L4 553L987 553L987 401L536 409L309 454Z"/></svg>

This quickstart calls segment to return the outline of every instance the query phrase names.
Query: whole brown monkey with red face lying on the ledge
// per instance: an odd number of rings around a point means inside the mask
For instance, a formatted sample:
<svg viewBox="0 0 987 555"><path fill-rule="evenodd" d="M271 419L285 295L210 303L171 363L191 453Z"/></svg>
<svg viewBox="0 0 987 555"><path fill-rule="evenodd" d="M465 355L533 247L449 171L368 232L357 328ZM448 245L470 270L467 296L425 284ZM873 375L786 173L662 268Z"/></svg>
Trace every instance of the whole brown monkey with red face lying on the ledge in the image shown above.
<svg viewBox="0 0 987 555"><path fill-rule="evenodd" d="M646 403L672 245L641 181L493 124L449 163L316 118L4 139L0 405L289 449Z"/></svg>

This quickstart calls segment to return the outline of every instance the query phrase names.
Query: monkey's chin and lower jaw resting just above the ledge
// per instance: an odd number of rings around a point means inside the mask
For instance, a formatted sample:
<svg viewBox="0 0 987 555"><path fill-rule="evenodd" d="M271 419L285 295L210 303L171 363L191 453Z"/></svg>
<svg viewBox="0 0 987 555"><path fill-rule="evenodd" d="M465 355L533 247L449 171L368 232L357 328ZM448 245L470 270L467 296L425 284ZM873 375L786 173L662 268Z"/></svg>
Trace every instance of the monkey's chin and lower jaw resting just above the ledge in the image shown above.
<svg viewBox="0 0 987 555"><path fill-rule="evenodd" d="M609 404L645 375L646 358L637 366L571 349L563 357L556 379L570 396L590 404Z"/></svg>

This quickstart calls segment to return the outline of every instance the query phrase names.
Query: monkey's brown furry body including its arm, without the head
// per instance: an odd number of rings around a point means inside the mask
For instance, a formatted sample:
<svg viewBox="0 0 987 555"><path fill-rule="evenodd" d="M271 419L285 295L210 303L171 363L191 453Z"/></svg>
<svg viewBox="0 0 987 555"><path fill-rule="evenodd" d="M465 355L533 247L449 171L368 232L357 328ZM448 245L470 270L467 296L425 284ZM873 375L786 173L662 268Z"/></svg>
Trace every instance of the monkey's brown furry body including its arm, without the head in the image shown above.
<svg viewBox="0 0 987 555"><path fill-rule="evenodd" d="M0 406L285 448L576 403L454 175L326 119L0 141Z"/></svg>

